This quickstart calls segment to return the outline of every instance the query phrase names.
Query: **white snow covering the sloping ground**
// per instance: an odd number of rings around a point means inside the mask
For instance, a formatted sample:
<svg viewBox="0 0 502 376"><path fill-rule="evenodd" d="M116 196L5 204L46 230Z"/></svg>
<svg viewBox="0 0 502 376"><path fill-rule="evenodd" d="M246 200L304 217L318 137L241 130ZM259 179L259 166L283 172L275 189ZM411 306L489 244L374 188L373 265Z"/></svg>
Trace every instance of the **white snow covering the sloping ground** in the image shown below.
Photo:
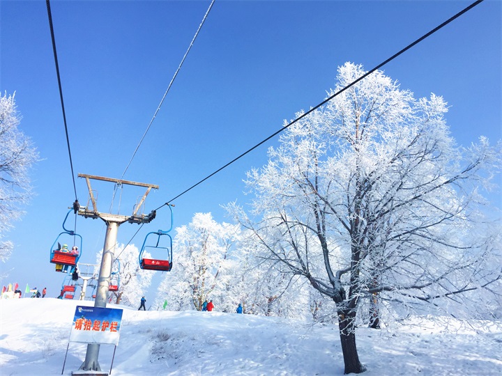
<svg viewBox="0 0 502 376"><path fill-rule="evenodd" d="M61 375L75 306L91 301L2 299L0 375ZM112 375L343 375L336 324L236 313L122 308ZM412 318L357 329L364 375L502 375L501 322ZM101 345L103 371L114 345ZM86 345L70 343L64 375Z"/></svg>

